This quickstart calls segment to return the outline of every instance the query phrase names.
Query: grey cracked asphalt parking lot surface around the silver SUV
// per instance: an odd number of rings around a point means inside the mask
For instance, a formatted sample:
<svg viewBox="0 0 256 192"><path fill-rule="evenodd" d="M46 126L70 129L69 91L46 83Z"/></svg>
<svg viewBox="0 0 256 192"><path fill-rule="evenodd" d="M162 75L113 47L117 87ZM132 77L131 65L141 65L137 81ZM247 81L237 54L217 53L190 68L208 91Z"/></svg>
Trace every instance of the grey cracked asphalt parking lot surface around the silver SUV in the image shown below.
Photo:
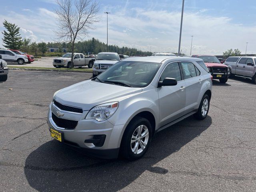
<svg viewBox="0 0 256 192"><path fill-rule="evenodd" d="M256 85L214 81L208 117L156 134L135 162L91 158L50 137L56 90L90 73L10 70L0 83L0 191L255 191ZM93 96L93 95L92 95Z"/></svg>

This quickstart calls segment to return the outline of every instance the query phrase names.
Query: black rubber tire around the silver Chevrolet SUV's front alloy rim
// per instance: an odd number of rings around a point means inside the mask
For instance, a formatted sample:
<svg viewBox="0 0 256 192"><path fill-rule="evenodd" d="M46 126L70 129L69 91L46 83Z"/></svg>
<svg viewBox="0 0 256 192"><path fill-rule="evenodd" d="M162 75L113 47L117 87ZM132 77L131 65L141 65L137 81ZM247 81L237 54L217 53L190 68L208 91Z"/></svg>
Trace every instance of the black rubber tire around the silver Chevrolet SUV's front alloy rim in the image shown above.
<svg viewBox="0 0 256 192"><path fill-rule="evenodd" d="M140 141L137 140L136 142L131 143L132 136L138 134L136 130L140 125L146 126L148 130L147 144L144 149L142 149L141 147L141 144L142 144L141 141L145 142L146 137L142 139L138 138ZM145 130L143 128L141 134L143 134L144 131ZM144 154L148 150L148 147L151 142L151 138L152 138L152 126L150 122L146 118L139 117L139 116L133 118L131 122L128 124L128 126L126 127L126 130L124 131L124 135L123 135L121 146L120 146L120 154L128 160L137 160L141 158L142 156L144 156ZM136 144L138 145L138 152L140 151L138 154L135 154L134 152L132 152L132 145L136 145Z"/></svg>

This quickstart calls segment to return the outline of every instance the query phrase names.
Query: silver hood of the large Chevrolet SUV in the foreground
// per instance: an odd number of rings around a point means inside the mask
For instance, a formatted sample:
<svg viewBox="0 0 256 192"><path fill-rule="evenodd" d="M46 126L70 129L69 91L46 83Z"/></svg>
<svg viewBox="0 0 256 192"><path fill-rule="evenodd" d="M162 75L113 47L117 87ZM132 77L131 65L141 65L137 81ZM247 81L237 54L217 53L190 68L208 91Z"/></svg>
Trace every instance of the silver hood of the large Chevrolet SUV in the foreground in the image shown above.
<svg viewBox="0 0 256 192"><path fill-rule="evenodd" d="M54 100L65 105L90 110L96 105L120 101L141 91L142 88L131 88L86 80L63 88L54 96Z"/></svg>

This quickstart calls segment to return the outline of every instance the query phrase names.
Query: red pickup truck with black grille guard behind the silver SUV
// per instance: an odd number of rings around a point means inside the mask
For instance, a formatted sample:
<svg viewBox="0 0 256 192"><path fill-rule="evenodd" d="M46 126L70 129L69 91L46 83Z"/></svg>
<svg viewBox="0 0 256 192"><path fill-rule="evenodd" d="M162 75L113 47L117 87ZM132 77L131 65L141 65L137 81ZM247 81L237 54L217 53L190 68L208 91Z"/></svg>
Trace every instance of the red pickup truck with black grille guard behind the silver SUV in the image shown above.
<svg viewBox="0 0 256 192"><path fill-rule="evenodd" d="M204 61L213 79L220 80L220 83L226 83L230 76L230 68L225 64L220 63L216 56L211 55L192 55Z"/></svg>

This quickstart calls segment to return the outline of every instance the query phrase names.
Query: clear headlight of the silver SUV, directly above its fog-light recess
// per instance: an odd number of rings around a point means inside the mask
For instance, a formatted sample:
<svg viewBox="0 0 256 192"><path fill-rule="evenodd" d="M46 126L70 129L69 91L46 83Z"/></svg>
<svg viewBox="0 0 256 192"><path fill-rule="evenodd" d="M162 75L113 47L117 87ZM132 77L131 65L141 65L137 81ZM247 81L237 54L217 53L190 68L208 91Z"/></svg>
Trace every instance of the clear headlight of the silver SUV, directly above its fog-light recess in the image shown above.
<svg viewBox="0 0 256 192"><path fill-rule="evenodd" d="M95 119L97 121L104 121L110 118L110 116L114 114L117 108L118 108L118 102L110 102L110 103L97 105L88 112L88 114L86 115L86 119Z"/></svg>

